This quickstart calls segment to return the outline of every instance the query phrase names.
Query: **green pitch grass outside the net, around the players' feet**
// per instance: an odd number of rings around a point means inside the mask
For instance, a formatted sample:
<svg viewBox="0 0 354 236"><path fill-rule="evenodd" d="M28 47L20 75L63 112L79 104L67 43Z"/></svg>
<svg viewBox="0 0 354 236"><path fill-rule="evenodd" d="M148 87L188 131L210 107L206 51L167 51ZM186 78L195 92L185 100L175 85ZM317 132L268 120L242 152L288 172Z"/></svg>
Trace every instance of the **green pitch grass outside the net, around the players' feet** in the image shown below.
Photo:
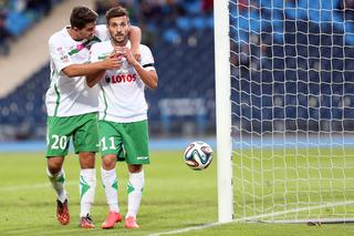
<svg viewBox="0 0 354 236"><path fill-rule="evenodd" d="M142 228L127 230L123 224L102 230L107 214L97 171L97 188L92 215L95 229L81 229L79 222L79 162L67 156L65 172L72 220L61 226L55 218L55 195L45 176L43 153L0 154L0 235L148 235L177 230L217 220L216 158L202 172L189 170L183 152L154 152L145 167L146 186L138 214ZM251 163L250 163L251 164ZM254 164L254 163L253 163ZM96 162L100 170L100 158ZM254 166L253 166L254 167ZM119 206L126 213L127 171L117 166ZM180 235L352 235L354 226L322 225L309 227L285 224L233 223Z"/></svg>

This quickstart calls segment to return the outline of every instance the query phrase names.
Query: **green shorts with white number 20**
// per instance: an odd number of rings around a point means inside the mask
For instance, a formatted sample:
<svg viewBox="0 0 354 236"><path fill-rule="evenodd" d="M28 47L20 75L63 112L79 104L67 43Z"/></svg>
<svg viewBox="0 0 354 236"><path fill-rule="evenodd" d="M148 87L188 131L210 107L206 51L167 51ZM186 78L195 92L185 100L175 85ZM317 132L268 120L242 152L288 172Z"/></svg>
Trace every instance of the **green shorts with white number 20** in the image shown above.
<svg viewBox="0 0 354 236"><path fill-rule="evenodd" d="M75 153L97 152L97 113L67 117L48 117L46 157L65 156L70 138L73 138Z"/></svg>

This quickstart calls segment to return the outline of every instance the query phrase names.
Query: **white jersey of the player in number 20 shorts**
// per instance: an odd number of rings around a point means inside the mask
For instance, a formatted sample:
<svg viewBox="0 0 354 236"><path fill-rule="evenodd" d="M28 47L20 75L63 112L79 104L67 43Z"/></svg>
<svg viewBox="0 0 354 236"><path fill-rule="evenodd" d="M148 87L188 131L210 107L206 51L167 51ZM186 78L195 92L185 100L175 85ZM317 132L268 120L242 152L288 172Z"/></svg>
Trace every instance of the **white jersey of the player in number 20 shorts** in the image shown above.
<svg viewBox="0 0 354 236"><path fill-rule="evenodd" d="M98 88L90 89L85 76L67 78L62 70L88 63L92 44L110 40L106 25L97 25L92 40L75 41L66 27L49 39L51 84L45 94L49 116L72 116L98 111Z"/></svg>

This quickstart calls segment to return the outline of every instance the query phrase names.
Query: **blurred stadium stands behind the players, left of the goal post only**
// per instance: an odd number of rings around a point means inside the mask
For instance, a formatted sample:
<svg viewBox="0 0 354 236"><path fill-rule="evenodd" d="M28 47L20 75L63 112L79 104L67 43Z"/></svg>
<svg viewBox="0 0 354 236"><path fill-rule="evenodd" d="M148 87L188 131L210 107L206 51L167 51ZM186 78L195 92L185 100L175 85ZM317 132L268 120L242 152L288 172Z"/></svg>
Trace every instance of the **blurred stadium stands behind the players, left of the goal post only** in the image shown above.
<svg viewBox="0 0 354 236"><path fill-rule="evenodd" d="M77 4L98 23L123 4L142 28L159 75L146 94L152 136L215 134L212 0L0 0L0 141L44 141L48 39Z"/></svg>

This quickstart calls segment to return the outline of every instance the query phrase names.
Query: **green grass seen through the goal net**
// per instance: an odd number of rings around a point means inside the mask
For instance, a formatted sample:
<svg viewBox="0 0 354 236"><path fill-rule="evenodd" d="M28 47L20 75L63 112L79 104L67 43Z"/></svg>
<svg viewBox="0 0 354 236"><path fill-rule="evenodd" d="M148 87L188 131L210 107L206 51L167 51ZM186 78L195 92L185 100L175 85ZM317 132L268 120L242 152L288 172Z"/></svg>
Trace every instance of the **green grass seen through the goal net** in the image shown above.
<svg viewBox="0 0 354 236"><path fill-rule="evenodd" d="M354 217L353 204L336 206L354 201L353 148L246 150L233 172L237 218L294 208L305 211L262 219Z"/></svg>

